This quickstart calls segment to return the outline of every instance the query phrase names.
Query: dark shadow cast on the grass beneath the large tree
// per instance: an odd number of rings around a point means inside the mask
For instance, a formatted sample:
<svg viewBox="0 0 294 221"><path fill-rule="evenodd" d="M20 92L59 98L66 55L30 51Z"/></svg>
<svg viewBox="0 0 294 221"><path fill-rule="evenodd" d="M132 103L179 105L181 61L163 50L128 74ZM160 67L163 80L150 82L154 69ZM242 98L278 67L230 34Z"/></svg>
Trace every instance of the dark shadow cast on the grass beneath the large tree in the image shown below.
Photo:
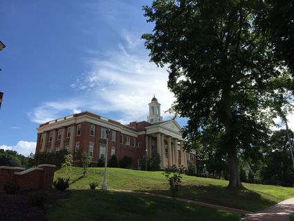
<svg viewBox="0 0 294 221"><path fill-rule="evenodd" d="M169 190L154 190L146 192L171 195ZM268 206L273 206L274 204L276 204L276 202L266 200L258 193L249 191L246 188L236 190L215 185L181 186L181 189L178 191L177 197L253 212L265 209Z"/></svg>

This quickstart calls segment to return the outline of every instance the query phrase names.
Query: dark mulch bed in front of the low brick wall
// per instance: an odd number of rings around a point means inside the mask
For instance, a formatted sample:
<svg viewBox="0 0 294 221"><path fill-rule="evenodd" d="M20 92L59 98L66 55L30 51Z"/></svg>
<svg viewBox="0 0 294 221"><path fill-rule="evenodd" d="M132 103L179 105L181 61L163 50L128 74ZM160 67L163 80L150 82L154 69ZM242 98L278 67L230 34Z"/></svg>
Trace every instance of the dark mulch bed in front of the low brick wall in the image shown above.
<svg viewBox="0 0 294 221"><path fill-rule="evenodd" d="M31 203L33 195L44 196L44 204L41 206L34 206ZM1 193L0 220L46 220L46 209L50 208L50 206L53 206L53 204L56 204L58 200L65 199L67 195L68 193L66 193L66 191L61 192L55 189L23 191L16 195Z"/></svg>

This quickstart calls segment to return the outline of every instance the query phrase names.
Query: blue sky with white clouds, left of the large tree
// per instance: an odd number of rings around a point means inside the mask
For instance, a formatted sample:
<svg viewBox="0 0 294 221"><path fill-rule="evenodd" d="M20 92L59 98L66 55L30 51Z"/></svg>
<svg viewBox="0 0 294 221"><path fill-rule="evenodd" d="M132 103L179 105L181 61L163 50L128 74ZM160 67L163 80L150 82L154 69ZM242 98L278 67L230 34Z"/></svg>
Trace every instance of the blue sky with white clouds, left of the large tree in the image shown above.
<svg viewBox="0 0 294 221"><path fill-rule="evenodd" d="M40 123L89 111L122 123L147 119L156 95L174 96L149 62L147 0L3 0L0 7L0 148L35 152ZM163 114L169 119L169 114ZM179 119L183 125L185 120Z"/></svg>

